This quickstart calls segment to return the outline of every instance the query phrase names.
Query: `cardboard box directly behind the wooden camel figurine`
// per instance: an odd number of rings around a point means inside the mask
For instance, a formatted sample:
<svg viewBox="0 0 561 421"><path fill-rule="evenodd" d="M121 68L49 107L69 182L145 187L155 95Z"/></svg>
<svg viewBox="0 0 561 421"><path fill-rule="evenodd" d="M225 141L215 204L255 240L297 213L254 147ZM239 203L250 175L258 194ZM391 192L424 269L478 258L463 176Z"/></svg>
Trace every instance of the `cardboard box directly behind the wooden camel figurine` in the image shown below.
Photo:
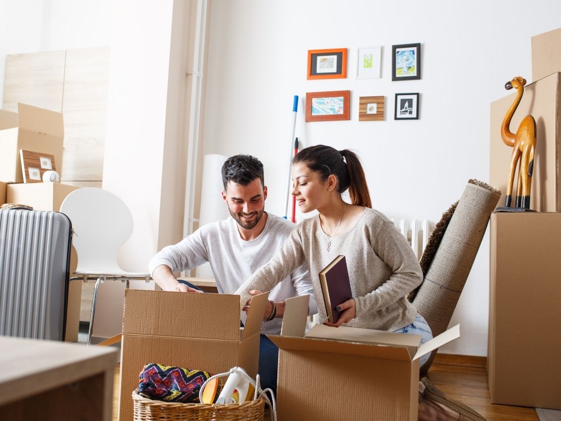
<svg viewBox="0 0 561 421"><path fill-rule="evenodd" d="M561 179L558 170L559 154L561 153L559 150L561 133L561 122L559 121L561 84L559 75L559 73L555 73L525 86L524 95L510 125L511 131L516 133L522 118L528 114L534 116L536 120L537 140L530 208L539 212L561 212ZM508 108L514 102L514 98L516 98L516 92L491 103L489 182L503 192L499 199L499 206L504 206L513 150L503 143L500 137L500 126ZM515 177L512 205L514 205L516 196L517 181L518 177Z"/></svg>

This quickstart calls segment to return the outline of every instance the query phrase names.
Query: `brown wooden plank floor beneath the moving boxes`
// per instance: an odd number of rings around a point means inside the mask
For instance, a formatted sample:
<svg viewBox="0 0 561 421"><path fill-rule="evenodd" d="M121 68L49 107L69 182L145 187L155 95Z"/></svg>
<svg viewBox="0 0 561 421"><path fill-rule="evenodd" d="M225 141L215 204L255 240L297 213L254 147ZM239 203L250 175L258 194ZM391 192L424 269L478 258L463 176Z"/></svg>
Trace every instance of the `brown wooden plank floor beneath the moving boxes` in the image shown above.
<svg viewBox="0 0 561 421"><path fill-rule="evenodd" d="M491 404L484 357L458 359L438 354L428 377L447 396L475 409L488 421L539 421L534 408ZM113 420L117 420L118 397L119 364L115 368Z"/></svg>

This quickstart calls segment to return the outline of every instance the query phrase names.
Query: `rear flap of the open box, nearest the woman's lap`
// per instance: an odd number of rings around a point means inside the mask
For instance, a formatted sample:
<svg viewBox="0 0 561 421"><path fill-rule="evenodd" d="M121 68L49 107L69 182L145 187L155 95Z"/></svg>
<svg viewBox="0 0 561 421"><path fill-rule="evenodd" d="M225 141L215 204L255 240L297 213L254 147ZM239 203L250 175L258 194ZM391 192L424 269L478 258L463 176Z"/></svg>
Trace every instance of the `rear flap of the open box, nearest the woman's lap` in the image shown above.
<svg viewBox="0 0 561 421"><path fill-rule="evenodd" d="M330 327L325 324L315 324L306 335L307 338L333 339L346 342L362 342L374 345L404 346L413 358L419 344L421 335L403 335L403 333L378 331L374 329L361 329L357 327Z"/></svg>

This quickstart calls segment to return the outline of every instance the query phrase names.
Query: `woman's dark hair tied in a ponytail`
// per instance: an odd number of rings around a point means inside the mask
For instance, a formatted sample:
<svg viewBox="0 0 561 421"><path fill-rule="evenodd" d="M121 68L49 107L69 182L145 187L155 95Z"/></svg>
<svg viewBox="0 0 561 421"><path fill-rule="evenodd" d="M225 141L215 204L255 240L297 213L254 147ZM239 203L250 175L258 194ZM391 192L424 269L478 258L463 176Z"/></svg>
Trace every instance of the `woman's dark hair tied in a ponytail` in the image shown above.
<svg viewBox="0 0 561 421"><path fill-rule="evenodd" d="M316 145L304 148L292 159L292 164L305 163L310 170L325 181L330 175L337 177L337 191L349 190L353 205L372 207L366 176L358 155L349 149L337 150Z"/></svg>

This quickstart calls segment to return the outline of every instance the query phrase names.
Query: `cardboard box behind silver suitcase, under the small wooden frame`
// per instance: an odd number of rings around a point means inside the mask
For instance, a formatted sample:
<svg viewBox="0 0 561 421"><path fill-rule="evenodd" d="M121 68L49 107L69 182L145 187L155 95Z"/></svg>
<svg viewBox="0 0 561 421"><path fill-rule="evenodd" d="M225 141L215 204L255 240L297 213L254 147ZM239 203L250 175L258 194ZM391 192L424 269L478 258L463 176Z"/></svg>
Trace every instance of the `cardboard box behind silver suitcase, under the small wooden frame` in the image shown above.
<svg viewBox="0 0 561 421"><path fill-rule="evenodd" d="M61 204L71 191L78 189L61 183L17 183L6 186L6 203L29 205L35 211L54 211L61 209ZM0 191L0 199L2 192ZM76 270L76 250L70 252L70 273ZM82 282L72 281L68 285L68 300L66 309L66 342L78 340L80 326L80 304L82 299Z"/></svg>

